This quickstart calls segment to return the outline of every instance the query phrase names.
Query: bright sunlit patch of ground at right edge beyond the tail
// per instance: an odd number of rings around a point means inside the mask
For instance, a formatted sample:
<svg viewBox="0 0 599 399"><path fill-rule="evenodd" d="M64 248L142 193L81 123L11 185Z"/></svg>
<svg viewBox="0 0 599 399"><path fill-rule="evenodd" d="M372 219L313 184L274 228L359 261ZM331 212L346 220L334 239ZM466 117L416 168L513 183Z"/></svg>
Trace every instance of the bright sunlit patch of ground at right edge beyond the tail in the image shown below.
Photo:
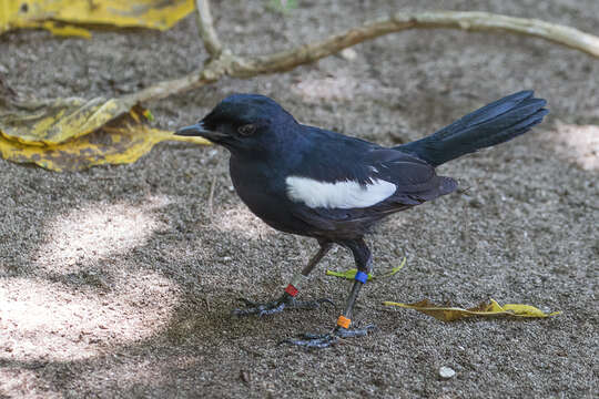
<svg viewBox="0 0 599 399"><path fill-rule="evenodd" d="M556 123L554 150L587 171L599 171L599 126Z"/></svg>

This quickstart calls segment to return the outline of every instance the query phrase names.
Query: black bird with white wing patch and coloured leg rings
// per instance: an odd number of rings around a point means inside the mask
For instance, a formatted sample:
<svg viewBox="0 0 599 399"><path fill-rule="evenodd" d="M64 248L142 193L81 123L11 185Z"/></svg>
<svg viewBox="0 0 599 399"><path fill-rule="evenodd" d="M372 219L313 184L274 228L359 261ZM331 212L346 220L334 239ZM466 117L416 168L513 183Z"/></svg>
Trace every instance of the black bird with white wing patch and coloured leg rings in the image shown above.
<svg viewBox="0 0 599 399"><path fill-rule="evenodd" d="M250 209L275 229L314 237L319 250L283 295L266 304L245 300L237 315L267 315L285 308L314 308L325 299L295 299L303 277L333 244L348 248L356 280L337 326L329 334L288 340L326 347L338 337L364 336L373 326L351 328L354 303L372 269L364 235L382 218L457 188L435 167L527 132L548 111L532 91L488 104L425 139L383 147L364 140L300 124L272 99L234 94L179 135L199 135L231 152L233 185Z"/></svg>

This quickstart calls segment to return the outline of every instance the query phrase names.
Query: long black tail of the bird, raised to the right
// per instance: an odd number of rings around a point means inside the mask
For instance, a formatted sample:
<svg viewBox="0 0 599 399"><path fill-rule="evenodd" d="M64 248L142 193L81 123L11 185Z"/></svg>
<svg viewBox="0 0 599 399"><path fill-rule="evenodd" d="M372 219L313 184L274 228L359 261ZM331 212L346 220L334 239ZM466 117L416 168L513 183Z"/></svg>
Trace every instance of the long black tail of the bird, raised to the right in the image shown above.
<svg viewBox="0 0 599 399"><path fill-rule="evenodd" d="M532 91L508 95L428 137L399 145L395 150L416 154L438 166L464 154L506 142L526 133L549 113L544 109L547 102L532 95Z"/></svg>

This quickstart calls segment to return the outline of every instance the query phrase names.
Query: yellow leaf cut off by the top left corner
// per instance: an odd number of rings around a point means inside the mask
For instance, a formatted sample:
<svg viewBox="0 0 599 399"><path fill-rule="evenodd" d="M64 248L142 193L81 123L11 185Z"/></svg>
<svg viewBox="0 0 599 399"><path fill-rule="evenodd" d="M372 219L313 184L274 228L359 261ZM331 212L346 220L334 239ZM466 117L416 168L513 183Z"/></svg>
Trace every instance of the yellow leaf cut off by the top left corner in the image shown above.
<svg viewBox="0 0 599 399"><path fill-rule="evenodd" d="M82 24L166 30L193 9L193 0L0 0L0 33L44 28L54 34L89 37Z"/></svg>

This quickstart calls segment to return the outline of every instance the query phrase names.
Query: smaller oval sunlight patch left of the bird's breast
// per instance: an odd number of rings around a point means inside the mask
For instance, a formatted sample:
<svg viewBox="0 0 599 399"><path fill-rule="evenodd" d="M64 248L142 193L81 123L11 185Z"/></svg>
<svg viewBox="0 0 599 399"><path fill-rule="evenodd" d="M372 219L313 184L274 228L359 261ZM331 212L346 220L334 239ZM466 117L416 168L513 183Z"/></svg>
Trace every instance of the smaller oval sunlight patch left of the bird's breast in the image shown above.
<svg viewBox="0 0 599 399"><path fill-rule="evenodd" d="M143 245L162 225L150 211L167 203L163 196L149 197L141 205L93 203L58 216L45 228L48 239L37 263L47 272L73 273Z"/></svg>

